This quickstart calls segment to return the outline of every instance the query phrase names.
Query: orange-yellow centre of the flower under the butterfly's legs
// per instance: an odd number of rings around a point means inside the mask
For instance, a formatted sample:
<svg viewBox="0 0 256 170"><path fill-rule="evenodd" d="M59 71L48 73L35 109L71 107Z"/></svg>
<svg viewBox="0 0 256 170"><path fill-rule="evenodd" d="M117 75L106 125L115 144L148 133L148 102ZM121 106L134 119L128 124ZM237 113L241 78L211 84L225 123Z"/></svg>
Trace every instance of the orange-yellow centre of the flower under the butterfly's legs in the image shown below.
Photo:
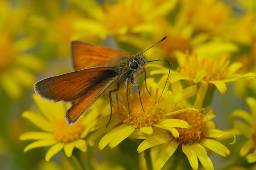
<svg viewBox="0 0 256 170"><path fill-rule="evenodd" d="M152 123L160 121L164 115L161 110L162 100L158 102L157 94L158 89L155 96L149 96L148 92L143 92L140 94L145 112L142 110L138 94L128 96L130 115L128 113L127 101L124 100L126 97L124 94L121 94L122 100L117 103L117 109L123 123L129 123L135 128L141 128L151 126Z"/></svg>

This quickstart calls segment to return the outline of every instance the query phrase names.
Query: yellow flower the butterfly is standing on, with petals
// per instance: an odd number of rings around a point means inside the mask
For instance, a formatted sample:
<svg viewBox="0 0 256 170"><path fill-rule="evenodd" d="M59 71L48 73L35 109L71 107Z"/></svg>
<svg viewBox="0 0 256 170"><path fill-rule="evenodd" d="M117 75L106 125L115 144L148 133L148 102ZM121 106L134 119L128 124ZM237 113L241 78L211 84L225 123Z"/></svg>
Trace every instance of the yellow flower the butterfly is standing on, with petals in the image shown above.
<svg viewBox="0 0 256 170"><path fill-rule="evenodd" d="M151 83L148 84L151 85ZM190 88L190 90L181 90L180 94L176 96L176 100L192 96L195 93L196 87ZM189 127L188 123L185 123L183 120L166 118L166 115L172 113L166 112L168 108L164 109L164 107L168 107L168 104L164 101L168 100L164 100L163 98L159 100L158 89L154 92L152 88L150 88L150 94L151 96L145 90L145 86L143 86L140 96L144 111L142 110L137 93L128 96L130 115L128 114L126 96L121 94L116 103L116 109L113 112L108 128L106 129L108 117L103 117L102 121L100 121L102 123L99 129L90 137L89 143L92 145L95 139L108 132L100 140L99 148L103 149L108 144L110 148L113 148L136 131L139 131L139 133L143 135L152 135L154 133L166 133L166 130L168 130L174 137L178 137L178 131L174 127ZM190 110L190 108L187 110ZM191 108L191 110L197 111L197 109L193 108ZM184 110L178 110L176 113L182 111Z"/></svg>

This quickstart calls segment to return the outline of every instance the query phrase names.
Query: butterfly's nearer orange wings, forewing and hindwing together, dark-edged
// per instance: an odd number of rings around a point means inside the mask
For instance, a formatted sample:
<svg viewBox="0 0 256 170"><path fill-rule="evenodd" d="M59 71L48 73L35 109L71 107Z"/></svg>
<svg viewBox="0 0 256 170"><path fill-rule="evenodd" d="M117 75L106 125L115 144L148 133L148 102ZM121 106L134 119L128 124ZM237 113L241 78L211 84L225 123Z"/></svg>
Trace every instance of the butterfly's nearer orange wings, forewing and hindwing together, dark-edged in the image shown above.
<svg viewBox="0 0 256 170"><path fill-rule="evenodd" d="M117 66L86 68L49 77L34 85L38 96L46 100L72 102L66 112L67 122L74 123L95 100L109 88L120 70Z"/></svg>

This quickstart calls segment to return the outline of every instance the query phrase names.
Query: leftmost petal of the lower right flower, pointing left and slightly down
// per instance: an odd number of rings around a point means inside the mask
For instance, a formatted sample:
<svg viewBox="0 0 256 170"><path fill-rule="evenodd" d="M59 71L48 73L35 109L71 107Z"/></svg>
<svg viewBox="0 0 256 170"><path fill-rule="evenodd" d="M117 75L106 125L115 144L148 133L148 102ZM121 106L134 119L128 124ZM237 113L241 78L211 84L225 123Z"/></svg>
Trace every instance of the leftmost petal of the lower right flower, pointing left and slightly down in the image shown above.
<svg viewBox="0 0 256 170"><path fill-rule="evenodd" d="M150 147L154 147L154 146L162 144L162 143L168 143L171 140L172 140L172 138L170 137L169 134L154 135L154 136L149 137L148 139L144 140L142 143L140 143L137 150L140 153Z"/></svg>

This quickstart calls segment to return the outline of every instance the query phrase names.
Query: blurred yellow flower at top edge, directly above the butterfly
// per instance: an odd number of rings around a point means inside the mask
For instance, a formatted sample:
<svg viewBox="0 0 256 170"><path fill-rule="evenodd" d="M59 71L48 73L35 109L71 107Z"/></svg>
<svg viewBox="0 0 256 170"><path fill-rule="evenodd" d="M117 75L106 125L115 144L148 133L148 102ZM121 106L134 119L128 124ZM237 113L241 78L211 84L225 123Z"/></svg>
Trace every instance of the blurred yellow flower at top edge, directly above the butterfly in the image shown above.
<svg viewBox="0 0 256 170"><path fill-rule="evenodd" d="M107 35L155 31L155 19L167 14L177 3L177 0L162 3L156 3L154 0L115 0L111 4L101 6L95 0L82 4L79 0L70 1L91 16L90 19L81 19L74 23L81 36L95 35L101 39L105 39ZM94 10L91 10L92 8Z"/></svg>

